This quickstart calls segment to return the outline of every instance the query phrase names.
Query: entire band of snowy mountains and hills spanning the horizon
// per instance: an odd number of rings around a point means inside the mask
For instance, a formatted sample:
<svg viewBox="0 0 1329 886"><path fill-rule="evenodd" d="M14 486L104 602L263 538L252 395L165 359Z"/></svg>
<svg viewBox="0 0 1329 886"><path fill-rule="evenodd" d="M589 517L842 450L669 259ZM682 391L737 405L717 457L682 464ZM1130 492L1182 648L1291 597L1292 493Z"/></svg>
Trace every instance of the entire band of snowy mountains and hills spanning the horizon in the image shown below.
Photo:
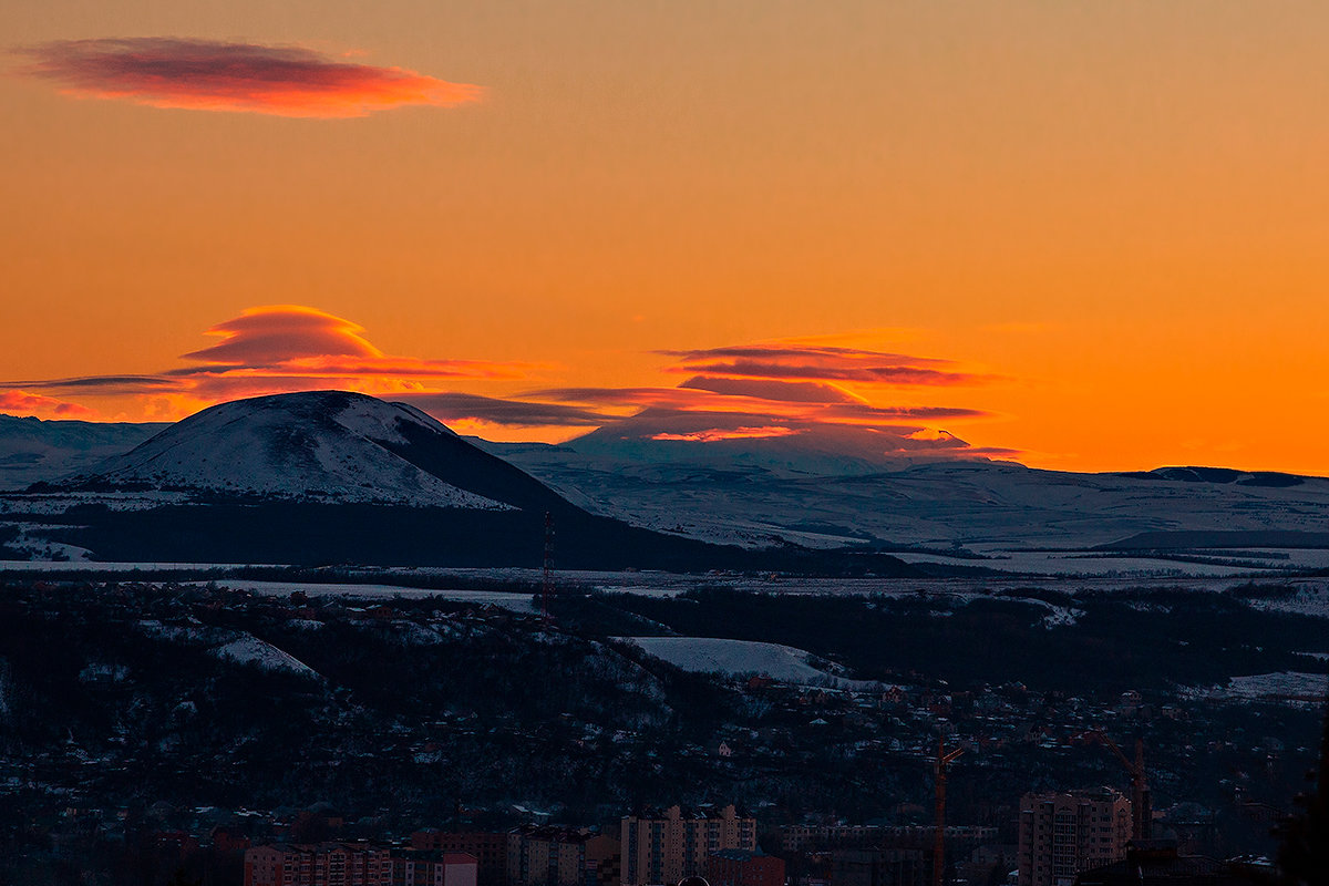
<svg viewBox="0 0 1329 886"><path fill-rule="evenodd" d="M886 557L897 554L925 570L1019 571L1029 551L1062 549L1080 559L1027 569L1103 571L1116 569L1108 554L1201 551L1201 566L1232 573L1251 557L1318 562L1251 549L1329 550L1329 481L1318 477L1193 466L1076 474L872 460L845 445L839 452L833 434L603 433L494 444L343 392L242 400L170 426L0 417L0 478L43 484L0 497L0 519L12 517L0 542L9 531L12 550L37 550L37 537L114 559L534 566L550 513L561 565L587 567L909 574ZM41 535L32 526L43 514L68 525Z"/></svg>

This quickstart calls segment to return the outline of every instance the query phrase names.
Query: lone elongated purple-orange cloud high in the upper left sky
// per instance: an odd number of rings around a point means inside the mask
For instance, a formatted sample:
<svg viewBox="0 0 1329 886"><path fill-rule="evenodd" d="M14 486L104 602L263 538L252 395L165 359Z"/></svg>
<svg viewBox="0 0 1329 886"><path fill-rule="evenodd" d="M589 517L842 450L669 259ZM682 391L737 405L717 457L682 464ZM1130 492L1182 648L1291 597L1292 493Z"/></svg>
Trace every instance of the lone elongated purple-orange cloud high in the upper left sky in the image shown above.
<svg viewBox="0 0 1329 886"><path fill-rule="evenodd" d="M300 46L179 37L60 40L20 50L25 73L62 92L153 108L280 117L364 117L407 105L449 108L482 89L338 60Z"/></svg>

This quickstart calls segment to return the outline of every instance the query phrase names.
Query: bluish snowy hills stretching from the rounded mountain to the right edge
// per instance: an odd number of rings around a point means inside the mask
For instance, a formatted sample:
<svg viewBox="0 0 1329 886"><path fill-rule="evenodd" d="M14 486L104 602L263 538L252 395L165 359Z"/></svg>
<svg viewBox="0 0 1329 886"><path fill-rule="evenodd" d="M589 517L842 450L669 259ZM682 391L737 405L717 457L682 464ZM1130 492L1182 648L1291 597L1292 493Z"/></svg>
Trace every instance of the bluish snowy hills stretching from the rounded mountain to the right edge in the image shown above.
<svg viewBox="0 0 1329 886"><path fill-rule="evenodd" d="M1223 543L1233 545L1233 534L1329 529L1329 481L1269 472L1080 474L954 460L847 460L836 470L825 456L801 464L781 456L779 441L762 449L731 441L730 458L718 457L716 444L662 442L672 450L655 457L641 442L630 453L595 454L579 441L476 442L601 513L740 545L1088 549L1140 533L1228 533Z"/></svg>

